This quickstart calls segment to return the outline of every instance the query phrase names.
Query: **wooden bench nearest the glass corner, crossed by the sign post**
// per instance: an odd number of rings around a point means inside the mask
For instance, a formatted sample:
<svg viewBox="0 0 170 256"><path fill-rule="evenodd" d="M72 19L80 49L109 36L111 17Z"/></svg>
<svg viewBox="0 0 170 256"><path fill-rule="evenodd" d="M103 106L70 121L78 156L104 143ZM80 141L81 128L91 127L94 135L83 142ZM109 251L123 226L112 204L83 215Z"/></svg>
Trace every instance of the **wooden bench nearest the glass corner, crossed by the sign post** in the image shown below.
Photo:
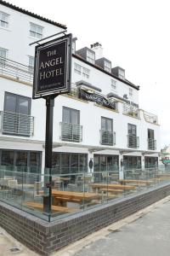
<svg viewBox="0 0 170 256"><path fill-rule="evenodd" d="M26 207L31 207L33 209L41 210L43 211L43 204L42 203L37 203L34 201L27 201L25 203ZM52 212L76 212L77 209L75 208L69 208L69 207L60 207L60 206L51 206Z"/></svg>

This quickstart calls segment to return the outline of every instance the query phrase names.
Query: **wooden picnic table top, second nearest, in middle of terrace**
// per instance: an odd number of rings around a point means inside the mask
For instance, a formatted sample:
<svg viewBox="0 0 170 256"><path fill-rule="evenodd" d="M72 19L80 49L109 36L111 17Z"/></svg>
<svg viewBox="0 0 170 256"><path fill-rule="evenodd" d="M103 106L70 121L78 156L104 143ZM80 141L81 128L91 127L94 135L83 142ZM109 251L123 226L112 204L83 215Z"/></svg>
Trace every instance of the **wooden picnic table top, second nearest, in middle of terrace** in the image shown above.
<svg viewBox="0 0 170 256"><path fill-rule="evenodd" d="M135 186L130 186L130 185L121 185L121 184L116 184L116 183L90 183L89 184L92 189L123 189L123 190L131 190L131 189L136 189Z"/></svg>

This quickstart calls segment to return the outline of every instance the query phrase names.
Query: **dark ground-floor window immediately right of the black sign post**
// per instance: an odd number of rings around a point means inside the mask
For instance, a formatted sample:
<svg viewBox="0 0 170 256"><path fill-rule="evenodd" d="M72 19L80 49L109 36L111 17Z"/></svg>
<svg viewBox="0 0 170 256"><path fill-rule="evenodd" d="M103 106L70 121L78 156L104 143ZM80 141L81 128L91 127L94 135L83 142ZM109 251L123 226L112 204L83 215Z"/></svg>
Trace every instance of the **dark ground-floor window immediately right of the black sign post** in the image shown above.
<svg viewBox="0 0 170 256"><path fill-rule="evenodd" d="M53 173L88 172L88 154L53 152Z"/></svg>

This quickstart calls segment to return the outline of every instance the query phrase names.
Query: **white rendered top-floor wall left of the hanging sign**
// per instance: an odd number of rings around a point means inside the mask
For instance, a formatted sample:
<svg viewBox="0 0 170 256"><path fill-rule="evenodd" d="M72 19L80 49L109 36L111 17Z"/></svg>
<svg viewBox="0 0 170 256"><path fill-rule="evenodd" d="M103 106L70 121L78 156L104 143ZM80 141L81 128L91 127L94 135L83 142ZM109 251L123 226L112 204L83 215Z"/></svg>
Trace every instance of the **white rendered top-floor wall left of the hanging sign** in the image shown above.
<svg viewBox="0 0 170 256"><path fill-rule="evenodd" d="M30 22L44 27L42 32L43 38L63 30L1 4L0 11L9 15L8 28L0 26L0 48L8 49L8 59L25 65L28 65L28 55L34 55L35 44L32 46L29 46L29 44L38 40L38 38L30 36Z"/></svg>

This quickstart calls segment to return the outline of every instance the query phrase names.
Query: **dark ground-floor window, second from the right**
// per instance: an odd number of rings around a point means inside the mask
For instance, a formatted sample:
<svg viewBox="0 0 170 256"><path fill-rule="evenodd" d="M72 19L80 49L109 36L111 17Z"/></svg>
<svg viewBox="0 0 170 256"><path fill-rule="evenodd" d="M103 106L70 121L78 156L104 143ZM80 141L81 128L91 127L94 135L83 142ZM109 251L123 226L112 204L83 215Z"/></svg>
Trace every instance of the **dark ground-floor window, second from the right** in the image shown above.
<svg viewBox="0 0 170 256"><path fill-rule="evenodd" d="M123 167L127 169L140 169L141 168L141 156L123 156Z"/></svg>

